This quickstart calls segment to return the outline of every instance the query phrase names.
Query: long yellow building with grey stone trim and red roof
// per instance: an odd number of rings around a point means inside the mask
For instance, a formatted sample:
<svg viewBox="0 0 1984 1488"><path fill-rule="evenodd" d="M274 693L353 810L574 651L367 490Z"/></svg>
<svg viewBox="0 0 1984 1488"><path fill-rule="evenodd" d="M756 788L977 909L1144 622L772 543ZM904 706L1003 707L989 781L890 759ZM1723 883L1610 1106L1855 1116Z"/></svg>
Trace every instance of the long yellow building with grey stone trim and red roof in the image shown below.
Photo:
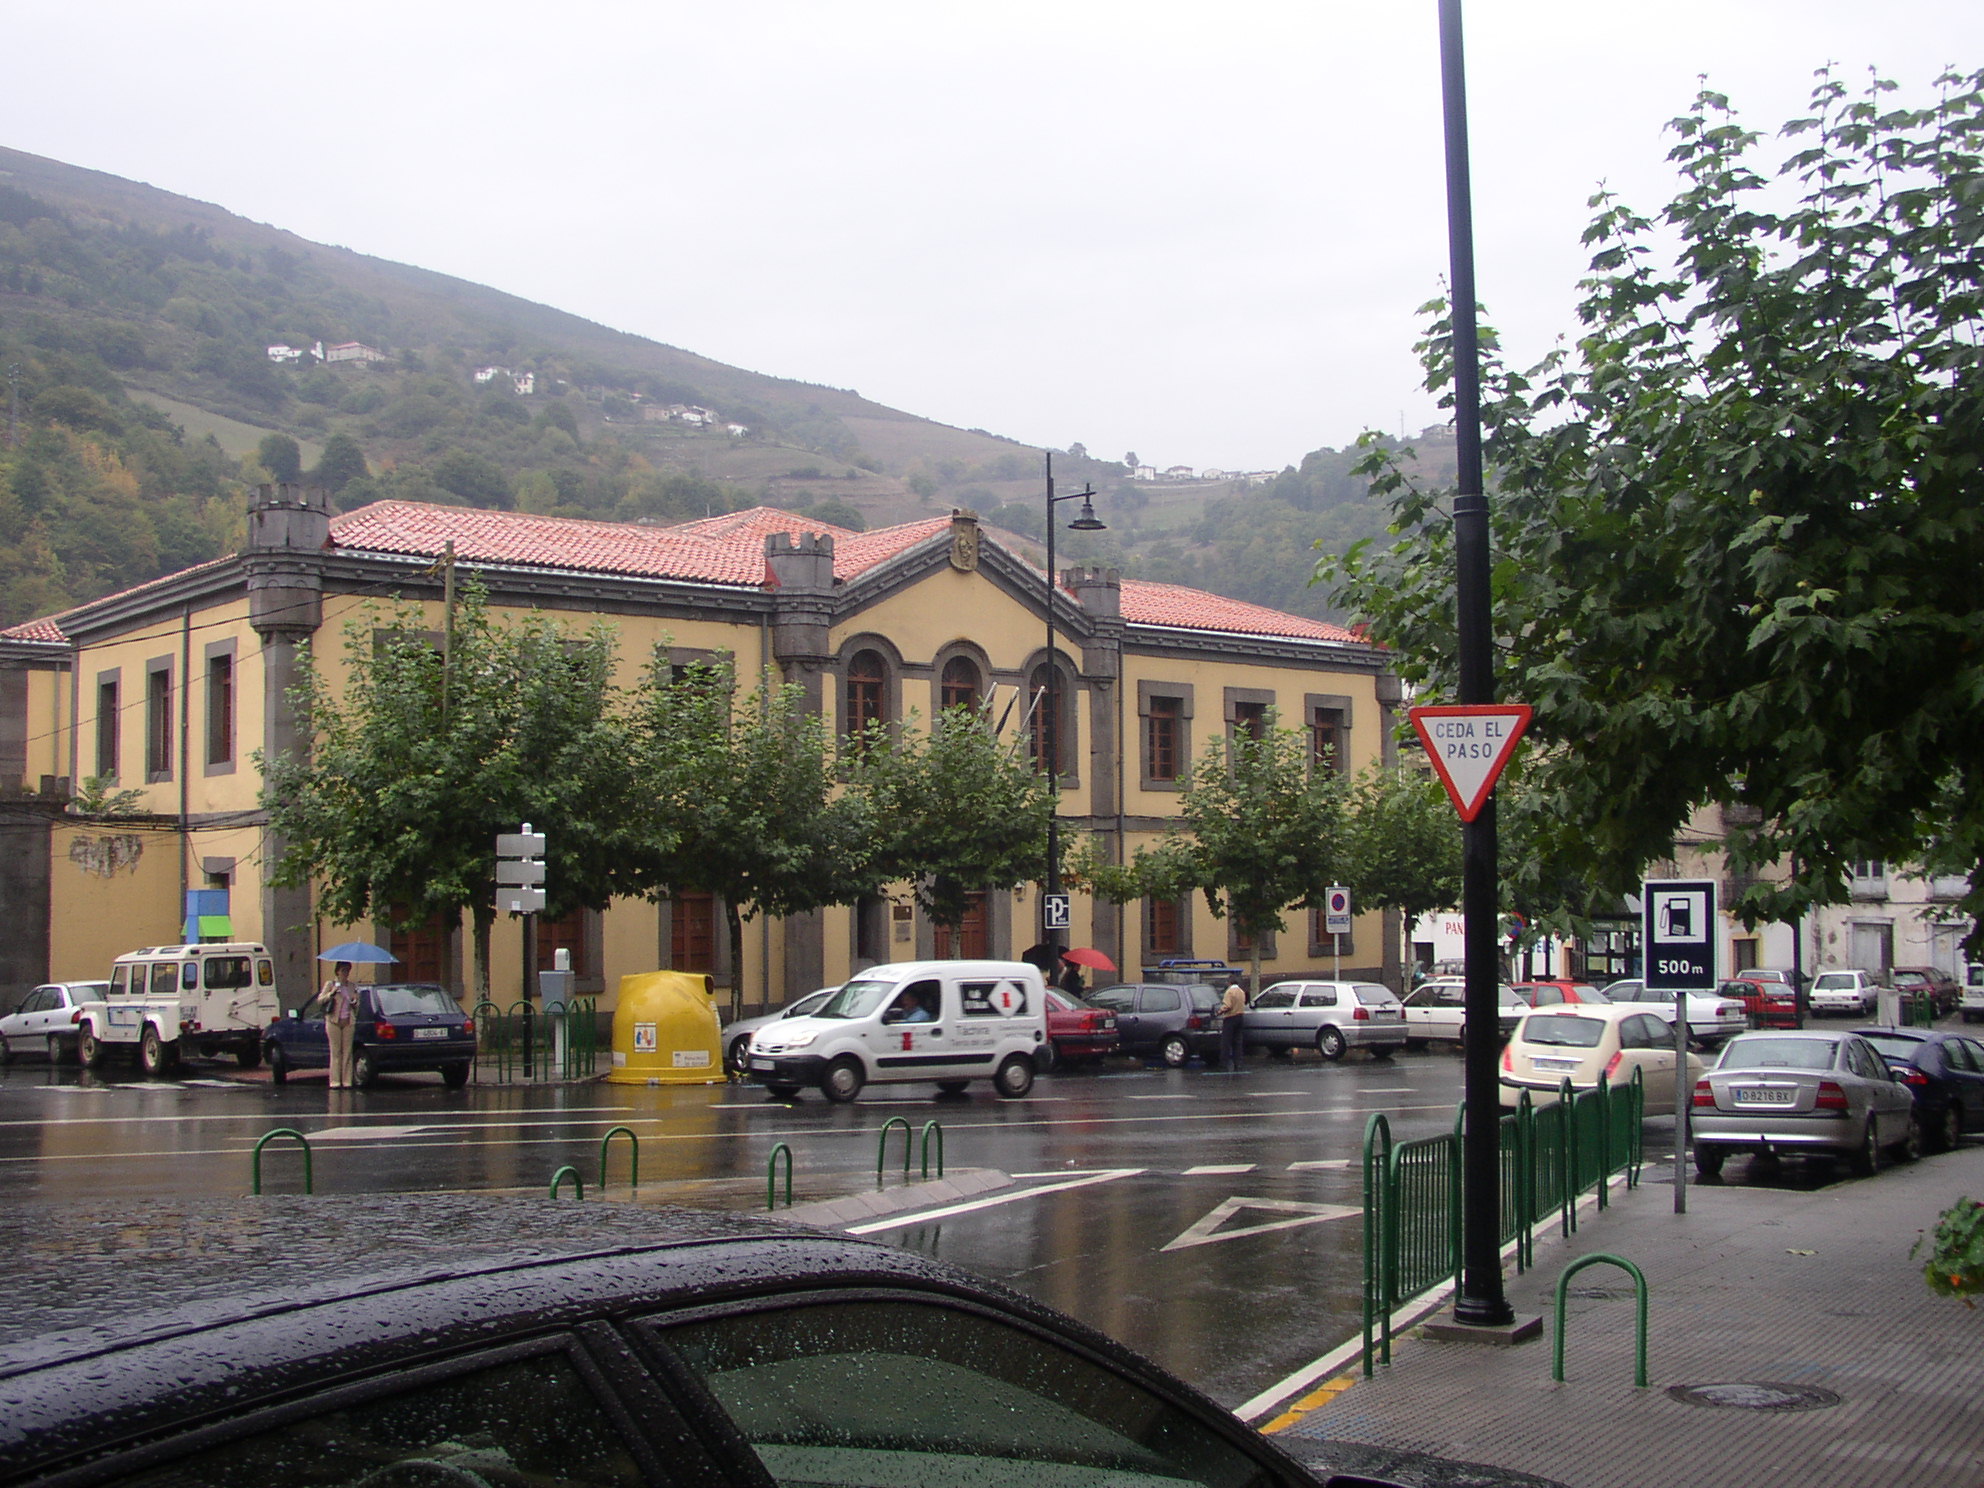
<svg viewBox="0 0 1984 1488"><path fill-rule="evenodd" d="M440 556L490 593L492 611L540 609L573 627L605 619L633 681L657 645L776 667L837 728L992 702L1008 728L1048 682L1048 583L970 512L847 532L754 508L671 528L379 502L331 516L323 492L264 486L246 550L0 631L0 980L103 976L141 944L177 942L188 915L264 940L294 1004L315 986L315 952L363 936L431 980L450 960L438 930L327 925L308 889L276 889L280 857L260 811L254 750L296 748L288 692L298 647L335 665L347 621L403 597L440 627ZM1028 724L1036 760L1059 770L1063 835L1099 833L1127 857L1177 815L1192 758L1270 708L1355 772L1389 748L1397 679L1385 653L1321 621L1113 569L1065 569L1054 589L1055 677ZM1008 708L1008 700L1018 706ZM71 782L139 792L143 815L113 823L63 811ZM188 899L204 891L206 899ZM1012 956L1036 934L1028 887L988 893L958 934L907 903L877 899L746 929L730 966L708 899L615 903L546 923L540 956L571 952L579 992L621 974L708 970L750 1004L841 980L877 960ZM1244 960L1232 925L1204 903L1113 907L1077 895L1067 944L1107 952L1123 976L1167 956ZM1298 913L1262 946L1264 972L1327 970L1317 917ZM1345 972L1397 982L1397 936L1359 917ZM458 950L458 946L456 946ZM498 923L498 990L520 982L520 936Z"/></svg>

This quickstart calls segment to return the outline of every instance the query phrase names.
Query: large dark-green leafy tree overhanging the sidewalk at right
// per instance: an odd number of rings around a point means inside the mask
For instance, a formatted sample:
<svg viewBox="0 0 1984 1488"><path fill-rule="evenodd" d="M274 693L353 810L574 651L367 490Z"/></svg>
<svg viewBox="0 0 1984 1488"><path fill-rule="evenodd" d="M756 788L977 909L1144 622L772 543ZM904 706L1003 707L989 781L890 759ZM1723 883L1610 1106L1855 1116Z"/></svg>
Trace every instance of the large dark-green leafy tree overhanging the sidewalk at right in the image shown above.
<svg viewBox="0 0 1984 1488"><path fill-rule="evenodd" d="M1984 73L1938 87L1821 75L1776 179L1702 93L1657 220L1595 198L1575 347L1484 369L1500 684L1551 853L1601 887L1720 802L1752 807L1750 923L1875 857L1960 865L1984 925ZM1421 351L1444 389L1442 317ZM1399 542L1323 573L1444 694L1450 524L1383 484Z"/></svg>

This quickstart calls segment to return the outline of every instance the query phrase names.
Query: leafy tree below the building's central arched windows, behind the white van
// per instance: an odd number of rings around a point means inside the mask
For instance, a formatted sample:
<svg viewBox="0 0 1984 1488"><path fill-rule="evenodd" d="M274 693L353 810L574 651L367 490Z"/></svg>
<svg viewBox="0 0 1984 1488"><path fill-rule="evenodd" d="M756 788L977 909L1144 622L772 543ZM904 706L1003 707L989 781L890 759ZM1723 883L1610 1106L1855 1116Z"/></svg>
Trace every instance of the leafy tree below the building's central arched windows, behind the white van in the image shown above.
<svg viewBox="0 0 1984 1488"><path fill-rule="evenodd" d="M936 925L964 923L970 895L1018 889L1048 861L1046 778L970 708L944 708L893 738L877 728L851 768L867 798L875 885L909 883Z"/></svg>

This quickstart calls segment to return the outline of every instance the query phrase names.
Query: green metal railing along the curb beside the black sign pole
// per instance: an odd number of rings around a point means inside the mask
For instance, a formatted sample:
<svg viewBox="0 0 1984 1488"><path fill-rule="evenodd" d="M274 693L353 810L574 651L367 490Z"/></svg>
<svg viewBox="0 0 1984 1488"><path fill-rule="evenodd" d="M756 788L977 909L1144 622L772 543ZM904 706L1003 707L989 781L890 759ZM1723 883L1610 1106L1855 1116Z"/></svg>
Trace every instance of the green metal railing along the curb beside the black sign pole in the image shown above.
<svg viewBox="0 0 1984 1488"><path fill-rule="evenodd" d="M1639 1184L1645 1083L1639 1069L1613 1089L1575 1093L1563 1081L1557 1099L1536 1107L1524 1091L1498 1121L1502 1169L1502 1244L1516 1246L1516 1270L1536 1262L1536 1226L1555 1214L1563 1232L1577 1228L1577 1200L1597 1190L1599 1206L1615 1173ZM1417 1296L1460 1280L1460 1139L1466 1105L1452 1131L1393 1141L1391 1123L1373 1113L1365 1125L1363 1198L1363 1367L1373 1355L1391 1363L1391 1317Z"/></svg>

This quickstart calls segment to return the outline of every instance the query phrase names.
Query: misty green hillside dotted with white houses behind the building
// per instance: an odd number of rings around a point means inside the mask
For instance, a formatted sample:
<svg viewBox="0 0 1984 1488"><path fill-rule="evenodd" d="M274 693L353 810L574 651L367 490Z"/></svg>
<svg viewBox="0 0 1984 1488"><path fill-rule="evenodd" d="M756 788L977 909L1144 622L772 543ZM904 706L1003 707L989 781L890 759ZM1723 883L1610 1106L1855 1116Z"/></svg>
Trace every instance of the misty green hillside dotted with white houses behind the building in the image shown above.
<svg viewBox="0 0 1984 1488"><path fill-rule="evenodd" d="M313 355L341 343L379 359ZM0 623L226 552L246 488L296 474L345 508L665 522L762 500L849 526L954 504L1022 536L1042 522L1040 452L1014 440L6 149L0 375ZM694 421L671 417L684 407ZM1317 450L1268 486L1167 486L1075 446L1055 474L1097 486L1109 532L1065 554L1321 613L1313 544L1383 522L1347 466Z"/></svg>

